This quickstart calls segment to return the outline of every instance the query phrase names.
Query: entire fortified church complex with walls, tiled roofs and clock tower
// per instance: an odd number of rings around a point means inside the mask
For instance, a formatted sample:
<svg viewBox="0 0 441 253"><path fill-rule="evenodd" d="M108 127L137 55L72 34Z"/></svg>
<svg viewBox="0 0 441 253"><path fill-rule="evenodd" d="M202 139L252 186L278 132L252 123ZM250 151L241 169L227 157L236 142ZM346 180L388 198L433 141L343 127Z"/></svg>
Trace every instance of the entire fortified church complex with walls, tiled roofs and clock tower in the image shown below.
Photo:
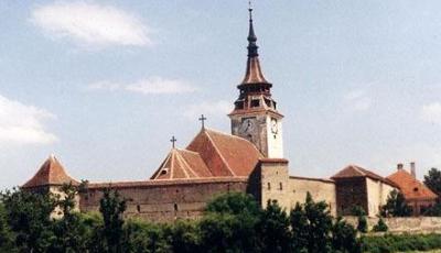
<svg viewBox="0 0 441 253"><path fill-rule="evenodd" d="M283 156L283 116L271 96L272 84L262 74L251 14L249 9L246 73L228 114L232 133L203 127L184 150L173 146L149 179L88 183L77 198L79 209L98 210L107 187L128 199L127 216L154 221L197 218L213 196L228 191L251 194L262 207L270 199L277 200L287 210L304 201L309 191L314 200L327 202L334 216L349 215L354 206L359 206L375 217L395 188L410 193L406 196L411 197L407 200L416 215L430 206L437 196L415 178L415 166L412 175L400 165L391 178L356 165L329 179L289 175L289 161ZM60 193L60 187L68 183L79 185L60 161L50 156L22 188Z"/></svg>

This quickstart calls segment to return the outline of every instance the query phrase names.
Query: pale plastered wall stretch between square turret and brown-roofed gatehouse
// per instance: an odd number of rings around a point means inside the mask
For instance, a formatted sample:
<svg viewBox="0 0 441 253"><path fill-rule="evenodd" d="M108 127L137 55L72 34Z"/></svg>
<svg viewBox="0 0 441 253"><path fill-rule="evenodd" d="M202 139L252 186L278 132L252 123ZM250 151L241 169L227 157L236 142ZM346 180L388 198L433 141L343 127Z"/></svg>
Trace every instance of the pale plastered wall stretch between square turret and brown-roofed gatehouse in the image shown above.
<svg viewBox="0 0 441 253"><path fill-rule="evenodd" d="M335 184L329 179L290 177L289 199L293 208L297 202L303 204L309 191L314 201L325 201L330 206L332 216L336 215Z"/></svg>

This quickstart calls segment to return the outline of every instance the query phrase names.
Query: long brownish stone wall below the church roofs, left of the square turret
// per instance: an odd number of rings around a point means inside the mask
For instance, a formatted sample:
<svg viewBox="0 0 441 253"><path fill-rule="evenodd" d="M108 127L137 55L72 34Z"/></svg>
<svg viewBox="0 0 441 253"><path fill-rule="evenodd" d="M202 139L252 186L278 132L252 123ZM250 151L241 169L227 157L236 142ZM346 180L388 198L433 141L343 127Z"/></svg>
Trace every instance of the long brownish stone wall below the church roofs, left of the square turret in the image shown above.
<svg viewBox="0 0 441 253"><path fill-rule="evenodd" d="M248 177L88 184L80 193L79 207L97 211L103 189L112 188L127 199L127 217L155 222L196 219L216 195L246 193L247 186Z"/></svg>

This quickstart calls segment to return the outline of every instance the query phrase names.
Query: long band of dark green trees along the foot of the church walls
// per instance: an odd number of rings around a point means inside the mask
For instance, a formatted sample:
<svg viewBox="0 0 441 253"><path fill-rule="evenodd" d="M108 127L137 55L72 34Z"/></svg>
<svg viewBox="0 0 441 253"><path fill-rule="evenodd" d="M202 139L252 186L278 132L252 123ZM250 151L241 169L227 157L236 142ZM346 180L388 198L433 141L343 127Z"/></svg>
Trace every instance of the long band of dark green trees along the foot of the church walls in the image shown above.
<svg viewBox="0 0 441 253"><path fill-rule="evenodd" d="M80 213L78 188L60 195L13 189L1 194L0 252L358 252L356 230L334 220L325 202L266 208L243 193L219 195L200 220L151 223L123 219L126 199L105 189L99 213Z"/></svg>

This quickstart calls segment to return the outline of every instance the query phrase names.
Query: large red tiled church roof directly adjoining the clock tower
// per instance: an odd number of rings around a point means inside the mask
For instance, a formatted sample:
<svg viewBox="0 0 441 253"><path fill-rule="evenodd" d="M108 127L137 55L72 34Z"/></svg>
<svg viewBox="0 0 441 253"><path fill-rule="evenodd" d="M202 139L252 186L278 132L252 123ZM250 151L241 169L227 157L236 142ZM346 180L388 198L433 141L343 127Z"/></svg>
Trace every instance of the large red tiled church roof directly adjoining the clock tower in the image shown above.
<svg viewBox="0 0 441 253"><path fill-rule="evenodd" d="M213 176L248 176L262 157L251 142L208 129L202 129L186 150L198 153Z"/></svg>

